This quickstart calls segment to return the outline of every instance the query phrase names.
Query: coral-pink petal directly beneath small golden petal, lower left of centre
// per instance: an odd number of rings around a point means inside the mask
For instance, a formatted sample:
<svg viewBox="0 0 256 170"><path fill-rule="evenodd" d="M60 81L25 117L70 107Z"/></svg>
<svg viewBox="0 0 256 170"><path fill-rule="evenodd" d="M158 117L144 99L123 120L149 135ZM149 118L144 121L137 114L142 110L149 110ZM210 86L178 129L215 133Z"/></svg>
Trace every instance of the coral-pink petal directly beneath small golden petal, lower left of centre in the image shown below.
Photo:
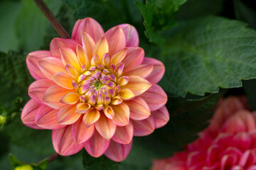
<svg viewBox="0 0 256 170"><path fill-rule="evenodd" d="M85 125L82 123L82 117L71 125L71 132L73 135L73 140L80 144L86 142L87 140L92 137L93 133L95 132L95 126L91 125L89 128L86 128Z"/></svg>

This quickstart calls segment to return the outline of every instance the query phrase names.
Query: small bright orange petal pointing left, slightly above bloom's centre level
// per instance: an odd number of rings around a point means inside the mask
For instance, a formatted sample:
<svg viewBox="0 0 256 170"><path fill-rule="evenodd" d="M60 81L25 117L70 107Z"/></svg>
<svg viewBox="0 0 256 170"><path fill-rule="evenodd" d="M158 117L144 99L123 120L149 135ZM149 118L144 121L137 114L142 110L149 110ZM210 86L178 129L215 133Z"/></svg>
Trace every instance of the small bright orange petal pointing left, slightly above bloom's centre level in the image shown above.
<svg viewBox="0 0 256 170"><path fill-rule="evenodd" d="M53 75L53 81L64 89L74 89L72 85L72 79L64 72L58 72Z"/></svg>

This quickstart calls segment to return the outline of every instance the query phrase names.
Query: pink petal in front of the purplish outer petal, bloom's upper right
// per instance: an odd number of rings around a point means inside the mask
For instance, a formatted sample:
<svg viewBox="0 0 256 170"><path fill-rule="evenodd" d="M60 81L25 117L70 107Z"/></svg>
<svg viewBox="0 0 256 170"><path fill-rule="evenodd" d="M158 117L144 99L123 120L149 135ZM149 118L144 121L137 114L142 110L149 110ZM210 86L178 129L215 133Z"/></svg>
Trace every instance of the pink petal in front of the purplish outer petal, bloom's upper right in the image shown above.
<svg viewBox="0 0 256 170"><path fill-rule="evenodd" d="M115 26L113 28L110 28L110 30L107 30L105 36L107 38L107 42L110 48L110 56L114 55L114 53L118 52L119 50L122 50L126 46L124 31L122 30L122 28L119 28L118 26Z"/></svg>

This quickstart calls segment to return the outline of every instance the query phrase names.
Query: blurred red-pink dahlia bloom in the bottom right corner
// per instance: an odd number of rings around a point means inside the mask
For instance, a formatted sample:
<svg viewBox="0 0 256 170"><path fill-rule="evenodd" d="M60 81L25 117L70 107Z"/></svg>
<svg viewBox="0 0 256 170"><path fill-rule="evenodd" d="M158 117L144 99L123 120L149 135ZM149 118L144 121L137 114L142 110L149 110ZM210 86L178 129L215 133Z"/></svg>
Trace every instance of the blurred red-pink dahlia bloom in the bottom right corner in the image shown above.
<svg viewBox="0 0 256 170"><path fill-rule="evenodd" d="M210 125L183 152L153 161L152 170L255 170L256 113L244 98L218 104Z"/></svg>

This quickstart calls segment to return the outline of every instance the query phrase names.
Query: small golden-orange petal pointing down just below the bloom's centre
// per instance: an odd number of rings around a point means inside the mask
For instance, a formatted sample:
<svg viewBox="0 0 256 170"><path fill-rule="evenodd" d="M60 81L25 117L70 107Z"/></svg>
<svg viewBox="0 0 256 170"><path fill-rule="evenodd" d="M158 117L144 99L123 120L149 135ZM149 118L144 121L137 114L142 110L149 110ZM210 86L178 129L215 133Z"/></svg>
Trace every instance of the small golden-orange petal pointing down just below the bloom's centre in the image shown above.
<svg viewBox="0 0 256 170"><path fill-rule="evenodd" d="M97 122L100 118L100 111L98 111L95 108L92 108L91 110L87 111L85 115L82 118L82 122L85 124L86 128L89 128L90 125Z"/></svg>

